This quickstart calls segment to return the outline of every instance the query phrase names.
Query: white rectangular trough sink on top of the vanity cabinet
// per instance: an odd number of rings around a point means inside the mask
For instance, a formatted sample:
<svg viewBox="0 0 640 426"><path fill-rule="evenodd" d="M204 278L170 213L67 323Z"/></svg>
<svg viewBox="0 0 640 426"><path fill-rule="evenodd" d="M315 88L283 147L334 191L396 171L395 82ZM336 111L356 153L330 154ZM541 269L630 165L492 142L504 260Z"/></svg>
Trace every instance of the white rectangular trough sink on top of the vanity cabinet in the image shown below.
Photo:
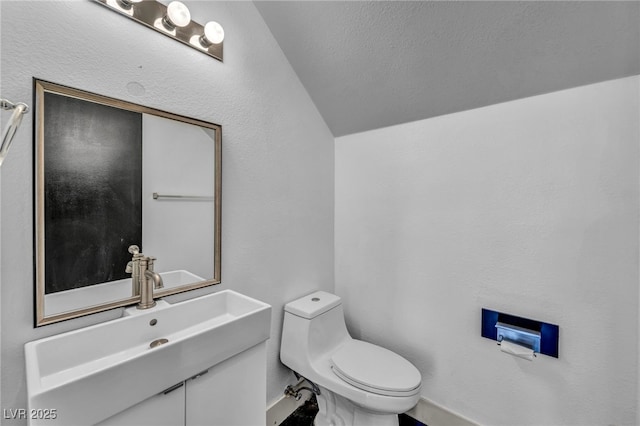
<svg viewBox="0 0 640 426"><path fill-rule="evenodd" d="M25 345L29 408L57 415L32 425L98 423L270 334L271 306L232 290L143 312Z"/></svg>

